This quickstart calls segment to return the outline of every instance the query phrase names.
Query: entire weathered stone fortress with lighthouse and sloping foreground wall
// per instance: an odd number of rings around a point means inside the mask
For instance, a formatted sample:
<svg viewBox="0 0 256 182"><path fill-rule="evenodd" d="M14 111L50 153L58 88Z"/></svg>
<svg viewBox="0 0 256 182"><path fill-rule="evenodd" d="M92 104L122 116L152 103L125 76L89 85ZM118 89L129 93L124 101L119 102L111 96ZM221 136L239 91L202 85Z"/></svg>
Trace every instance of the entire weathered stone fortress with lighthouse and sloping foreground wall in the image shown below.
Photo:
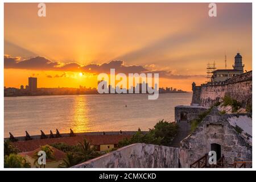
<svg viewBox="0 0 256 182"><path fill-rule="evenodd" d="M234 59L233 70L214 71L207 84L192 83L191 106L175 107L175 122L180 131L172 147L131 144L74 167L251 167L251 111L220 110L224 96L236 100L243 108L252 104L252 71L243 73L240 53ZM192 122L202 114L204 117L192 131ZM208 163L209 151L216 152L217 164Z"/></svg>

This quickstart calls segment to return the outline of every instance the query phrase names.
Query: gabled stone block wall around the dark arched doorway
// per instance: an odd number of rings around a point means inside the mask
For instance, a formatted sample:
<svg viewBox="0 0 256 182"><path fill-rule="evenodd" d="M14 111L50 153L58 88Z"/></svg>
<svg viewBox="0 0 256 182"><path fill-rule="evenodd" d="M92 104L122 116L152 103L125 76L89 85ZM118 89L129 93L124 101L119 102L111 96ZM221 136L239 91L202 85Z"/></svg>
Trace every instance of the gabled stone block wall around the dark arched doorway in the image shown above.
<svg viewBox="0 0 256 182"><path fill-rule="evenodd" d="M208 154L213 143L221 146L221 155L224 155L225 163L252 160L250 144L229 124L226 115L222 117L213 111L191 135L181 141L180 167L189 167Z"/></svg>

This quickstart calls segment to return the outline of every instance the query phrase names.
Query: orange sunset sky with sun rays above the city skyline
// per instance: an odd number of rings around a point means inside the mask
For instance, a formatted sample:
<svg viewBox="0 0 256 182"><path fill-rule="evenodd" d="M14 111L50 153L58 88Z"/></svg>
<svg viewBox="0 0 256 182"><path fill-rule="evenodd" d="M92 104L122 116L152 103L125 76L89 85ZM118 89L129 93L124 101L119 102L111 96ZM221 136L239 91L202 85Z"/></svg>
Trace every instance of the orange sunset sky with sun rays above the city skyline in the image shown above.
<svg viewBox="0 0 256 182"><path fill-rule="evenodd" d="M97 74L160 73L160 87L191 90L206 67L251 70L251 3L5 3L5 86L97 86ZM80 74L82 73L82 74Z"/></svg>

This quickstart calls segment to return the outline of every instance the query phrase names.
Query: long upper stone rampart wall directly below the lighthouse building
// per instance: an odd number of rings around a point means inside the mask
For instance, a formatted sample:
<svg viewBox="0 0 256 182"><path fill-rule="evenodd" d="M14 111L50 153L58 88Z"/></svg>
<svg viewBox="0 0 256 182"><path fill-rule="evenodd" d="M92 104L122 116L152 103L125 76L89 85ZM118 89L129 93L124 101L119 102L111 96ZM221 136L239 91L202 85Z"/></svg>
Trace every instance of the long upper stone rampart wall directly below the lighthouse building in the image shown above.
<svg viewBox="0 0 256 182"><path fill-rule="evenodd" d="M223 82L202 84L200 90L200 106L210 107L214 103L220 101L220 98L224 97L226 94L241 102L243 107L248 104L251 105L252 71L243 73ZM196 99L196 97L192 98L192 102Z"/></svg>

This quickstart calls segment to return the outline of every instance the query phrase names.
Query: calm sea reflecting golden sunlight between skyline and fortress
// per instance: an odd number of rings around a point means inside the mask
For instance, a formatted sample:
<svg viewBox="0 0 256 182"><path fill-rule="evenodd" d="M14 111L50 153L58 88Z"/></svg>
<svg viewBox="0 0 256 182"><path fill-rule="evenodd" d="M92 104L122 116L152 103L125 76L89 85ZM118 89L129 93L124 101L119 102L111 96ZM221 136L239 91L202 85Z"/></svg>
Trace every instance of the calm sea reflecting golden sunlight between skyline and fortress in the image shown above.
<svg viewBox="0 0 256 182"><path fill-rule="evenodd" d="M189 105L192 93L5 97L5 137L152 128L160 119L174 121L174 107ZM125 106L127 105L127 107Z"/></svg>

